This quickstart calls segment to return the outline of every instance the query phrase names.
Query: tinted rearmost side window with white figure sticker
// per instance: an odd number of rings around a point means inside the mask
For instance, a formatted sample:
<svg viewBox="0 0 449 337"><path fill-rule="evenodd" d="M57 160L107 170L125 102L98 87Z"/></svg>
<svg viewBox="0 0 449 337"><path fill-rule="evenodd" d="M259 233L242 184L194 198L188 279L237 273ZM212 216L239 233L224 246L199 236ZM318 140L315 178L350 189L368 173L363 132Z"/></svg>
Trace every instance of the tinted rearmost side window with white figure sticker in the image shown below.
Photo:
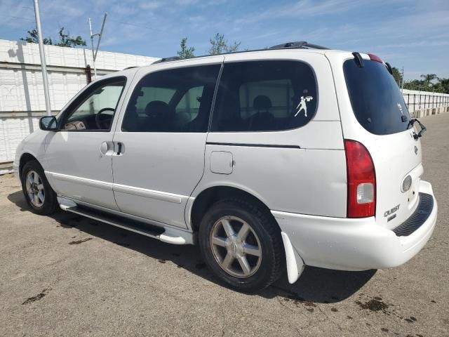
<svg viewBox="0 0 449 337"><path fill-rule="evenodd" d="M212 131L299 128L316 113L311 67L298 61L227 63L213 112Z"/></svg>

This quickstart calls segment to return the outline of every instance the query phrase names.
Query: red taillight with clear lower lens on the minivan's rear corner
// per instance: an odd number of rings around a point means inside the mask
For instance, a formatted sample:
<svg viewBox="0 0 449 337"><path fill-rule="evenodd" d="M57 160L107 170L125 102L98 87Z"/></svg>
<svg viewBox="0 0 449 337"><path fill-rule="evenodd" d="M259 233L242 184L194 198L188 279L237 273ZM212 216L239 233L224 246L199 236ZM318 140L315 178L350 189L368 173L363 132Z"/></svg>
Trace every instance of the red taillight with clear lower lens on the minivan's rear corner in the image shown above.
<svg viewBox="0 0 449 337"><path fill-rule="evenodd" d="M355 140L344 140L347 161L347 217L375 215L376 174L370 152Z"/></svg>

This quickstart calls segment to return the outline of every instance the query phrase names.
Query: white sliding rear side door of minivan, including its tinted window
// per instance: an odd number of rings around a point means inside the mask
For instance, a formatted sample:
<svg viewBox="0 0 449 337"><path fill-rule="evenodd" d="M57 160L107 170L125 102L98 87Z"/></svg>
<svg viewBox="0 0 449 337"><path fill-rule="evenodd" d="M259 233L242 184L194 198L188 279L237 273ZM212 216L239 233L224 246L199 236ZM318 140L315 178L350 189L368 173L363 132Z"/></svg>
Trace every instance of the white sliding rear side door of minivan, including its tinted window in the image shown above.
<svg viewBox="0 0 449 337"><path fill-rule="evenodd" d="M119 209L186 227L187 199L203 176L210 106L222 57L215 64L141 70L126 99L112 157Z"/></svg>

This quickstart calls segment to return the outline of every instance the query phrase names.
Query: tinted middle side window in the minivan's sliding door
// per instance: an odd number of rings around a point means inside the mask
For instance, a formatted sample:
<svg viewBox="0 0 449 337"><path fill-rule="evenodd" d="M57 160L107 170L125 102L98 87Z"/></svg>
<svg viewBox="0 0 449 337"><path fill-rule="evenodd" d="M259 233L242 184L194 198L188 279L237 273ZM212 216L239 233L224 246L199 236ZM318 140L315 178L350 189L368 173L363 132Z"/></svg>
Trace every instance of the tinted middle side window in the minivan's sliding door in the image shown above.
<svg viewBox="0 0 449 337"><path fill-rule="evenodd" d="M127 132L206 132L220 65L161 70L145 76L123 117Z"/></svg>

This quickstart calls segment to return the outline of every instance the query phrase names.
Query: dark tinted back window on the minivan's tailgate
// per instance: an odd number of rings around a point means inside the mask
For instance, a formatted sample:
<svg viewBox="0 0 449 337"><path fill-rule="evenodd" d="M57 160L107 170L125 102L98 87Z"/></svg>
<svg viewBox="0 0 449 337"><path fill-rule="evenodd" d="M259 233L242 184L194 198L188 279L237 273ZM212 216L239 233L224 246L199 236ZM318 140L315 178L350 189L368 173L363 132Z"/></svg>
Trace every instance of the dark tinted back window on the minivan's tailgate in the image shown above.
<svg viewBox="0 0 449 337"><path fill-rule="evenodd" d="M406 131L410 114L401 91L383 63L344 62L344 77L358 123L370 133L389 135Z"/></svg>

